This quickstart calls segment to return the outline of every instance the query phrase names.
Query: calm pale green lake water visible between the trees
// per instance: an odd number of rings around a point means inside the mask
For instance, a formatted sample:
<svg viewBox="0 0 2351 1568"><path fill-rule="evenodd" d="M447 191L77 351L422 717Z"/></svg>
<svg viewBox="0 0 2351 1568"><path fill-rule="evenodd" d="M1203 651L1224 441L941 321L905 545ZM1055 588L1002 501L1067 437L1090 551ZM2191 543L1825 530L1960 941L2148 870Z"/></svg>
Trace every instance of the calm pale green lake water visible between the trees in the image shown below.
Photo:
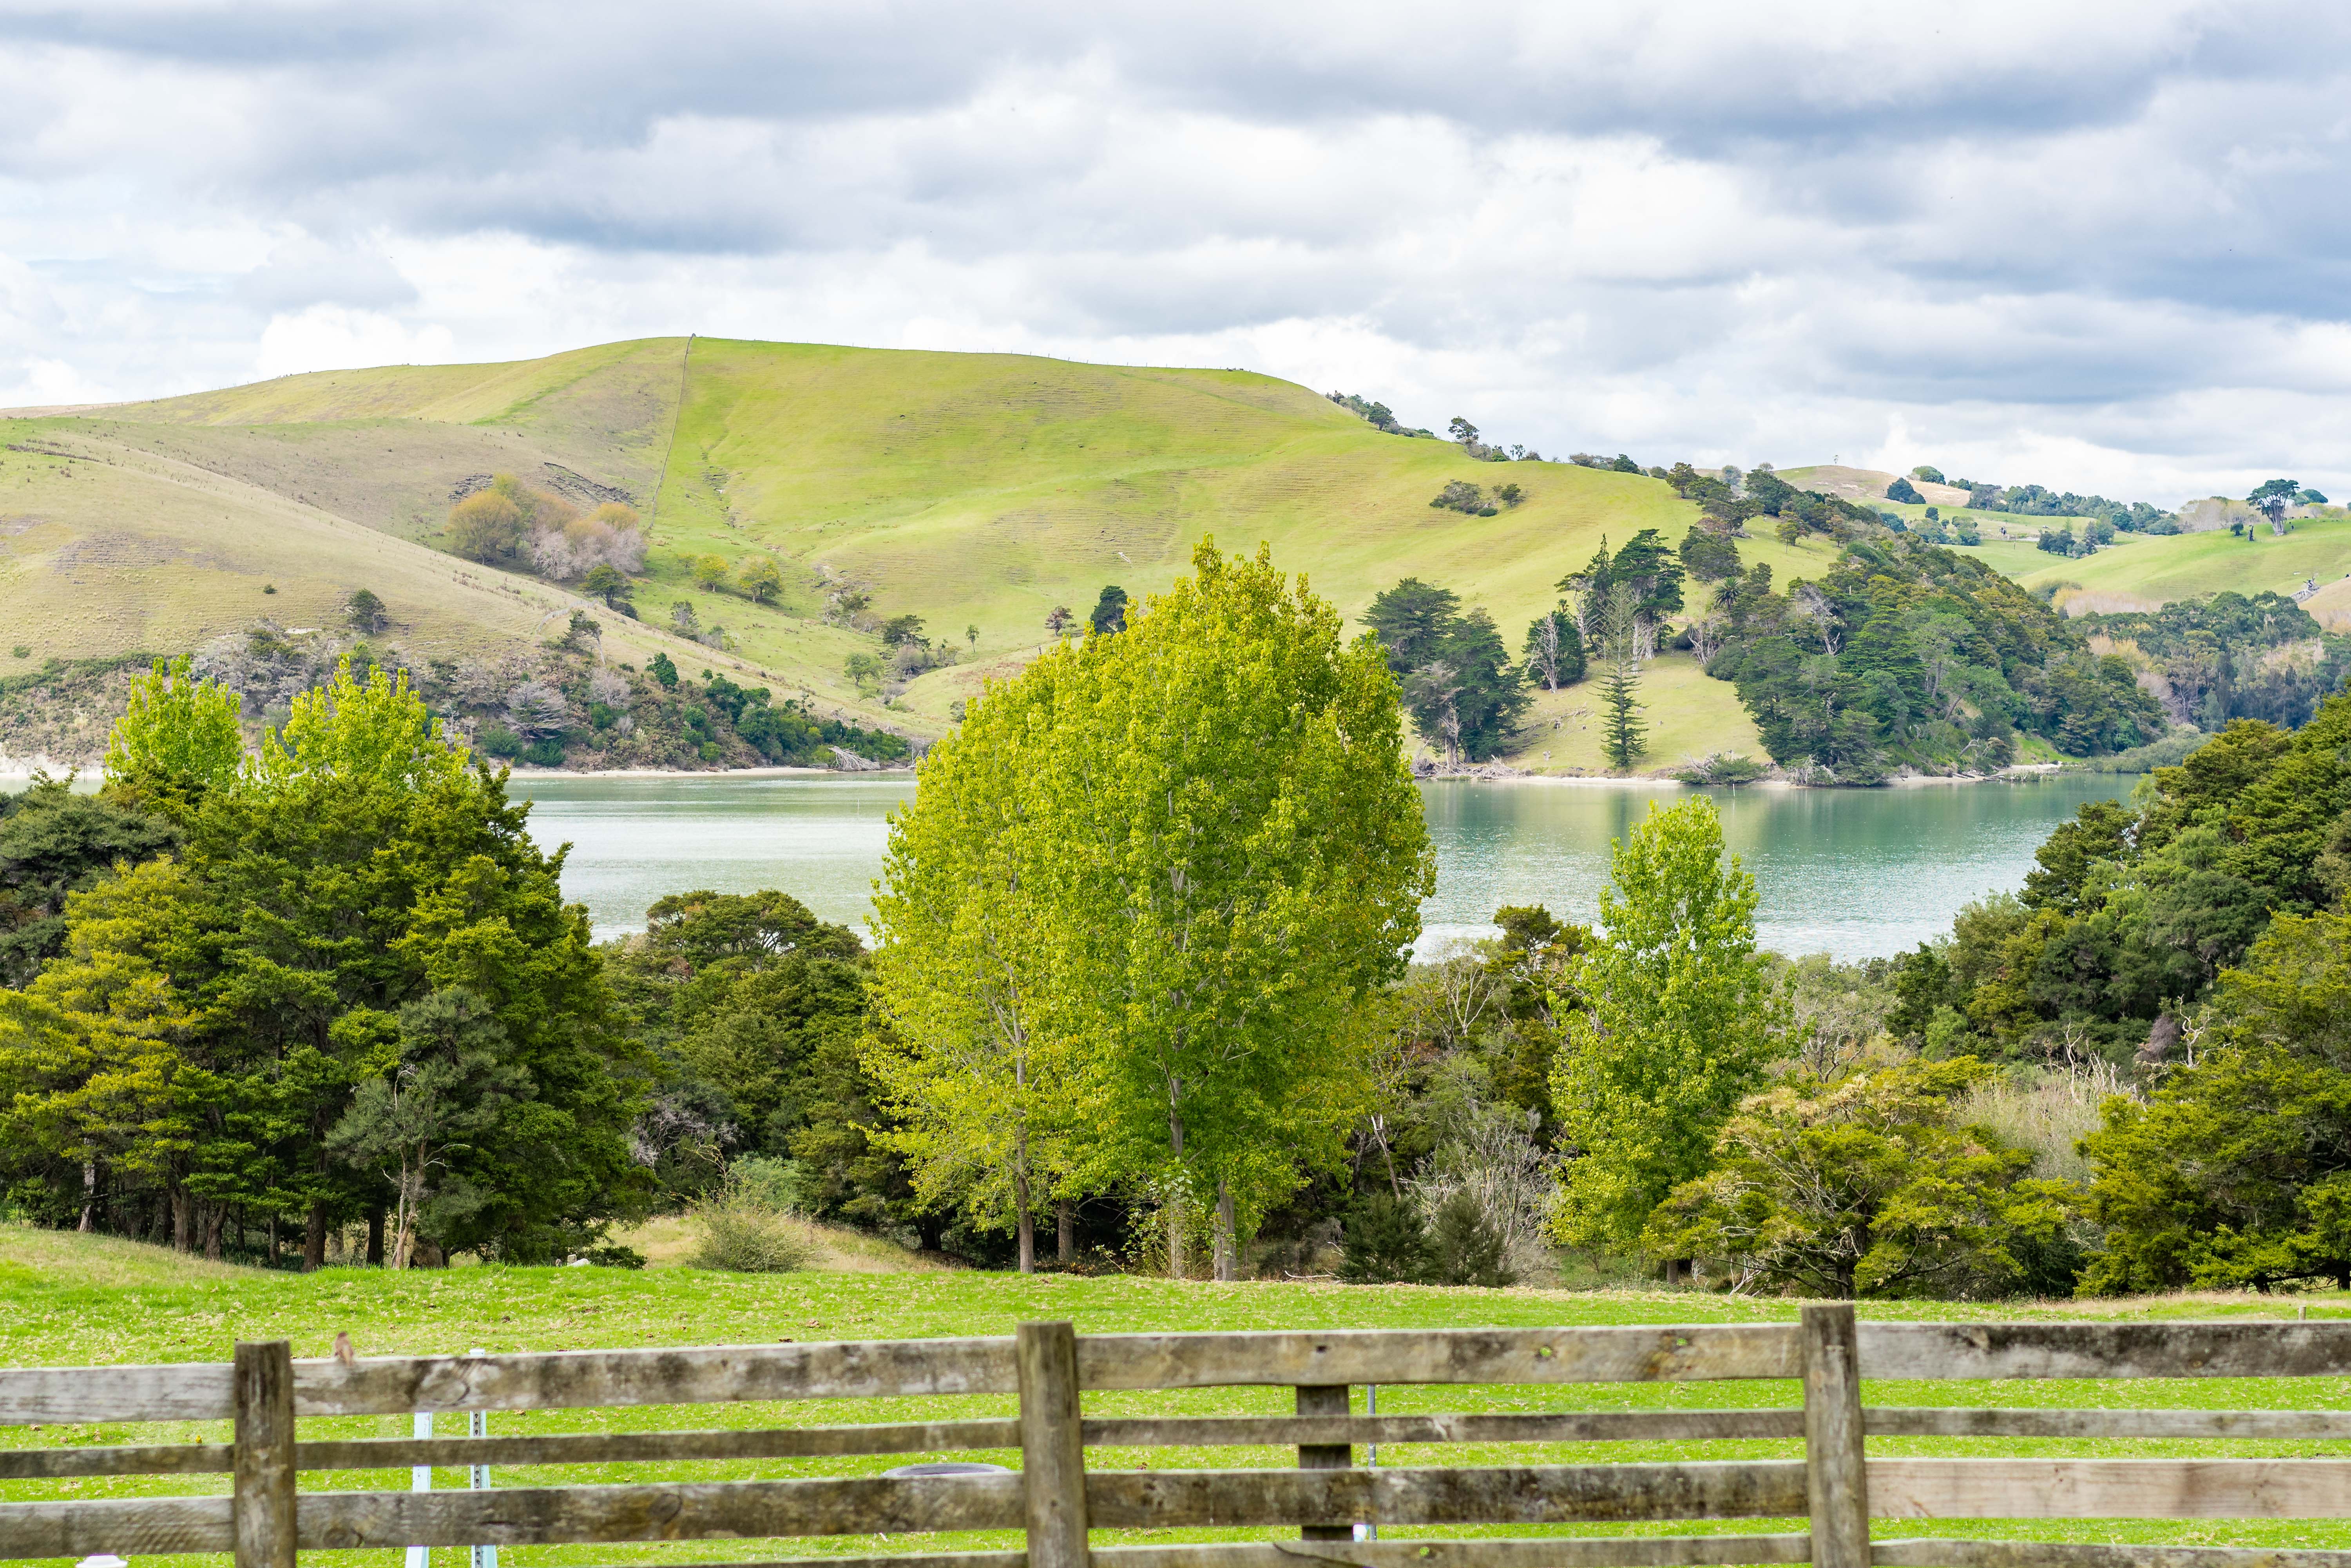
<svg viewBox="0 0 2351 1568"><path fill-rule="evenodd" d="M2024 884L2034 849L2088 799L2132 776L1902 790L1709 790L1730 851L1763 891L1761 940L1838 959L1890 954L1947 931L1970 898ZM644 929L644 907L686 889L785 889L863 929L886 816L912 778L515 778L531 835L571 842L564 893L597 936ZM1681 790L1533 783L1422 785L1436 896L1422 952L1491 936L1495 907L1592 919L1608 842Z"/></svg>

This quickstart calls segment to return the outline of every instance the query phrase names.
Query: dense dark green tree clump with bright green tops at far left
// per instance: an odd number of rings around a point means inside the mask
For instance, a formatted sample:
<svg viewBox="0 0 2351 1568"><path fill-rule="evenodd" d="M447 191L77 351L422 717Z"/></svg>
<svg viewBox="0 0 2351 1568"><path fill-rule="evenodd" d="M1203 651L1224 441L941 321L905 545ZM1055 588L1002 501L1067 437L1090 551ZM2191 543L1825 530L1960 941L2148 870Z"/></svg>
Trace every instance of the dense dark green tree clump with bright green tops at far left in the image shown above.
<svg viewBox="0 0 2351 1568"><path fill-rule="evenodd" d="M346 668L237 757L235 698L158 668L108 799L176 851L68 896L0 992L14 1201L221 1255L280 1222L548 1260L639 1190L632 1058L560 856L404 684Z"/></svg>

